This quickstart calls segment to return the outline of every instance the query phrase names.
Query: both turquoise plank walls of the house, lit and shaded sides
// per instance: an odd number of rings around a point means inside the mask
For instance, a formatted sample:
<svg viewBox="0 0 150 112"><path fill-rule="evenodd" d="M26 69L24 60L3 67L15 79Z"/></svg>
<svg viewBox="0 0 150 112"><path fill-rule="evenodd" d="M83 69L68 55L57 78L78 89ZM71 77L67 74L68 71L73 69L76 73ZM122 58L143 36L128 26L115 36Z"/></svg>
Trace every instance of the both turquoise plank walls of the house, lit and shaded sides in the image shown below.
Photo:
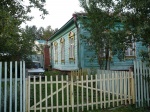
<svg viewBox="0 0 150 112"><path fill-rule="evenodd" d="M72 21L72 20L70 20ZM68 24L68 23L66 23ZM77 26L74 22L67 25L67 27L62 27L62 31L58 35L54 36L50 40L50 43L58 43L58 62L54 61L54 45L51 46L51 64L54 69L59 70L76 70L80 68L99 68L99 64L94 51L89 50L87 43L83 42L81 35L90 35L86 30L82 29L80 21L77 22ZM75 61L69 61L69 32L75 33ZM61 47L60 39L65 39L65 62L61 63ZM112 56L109 61L109 69L111 70L129 70L133 67L133 60L141 60L139 55L141 50L146 50L142 46L141 42L136 43L135 58L125 58L123 61L118 59L117 55ZM93 59L93 60L91 60Z"/></svg>

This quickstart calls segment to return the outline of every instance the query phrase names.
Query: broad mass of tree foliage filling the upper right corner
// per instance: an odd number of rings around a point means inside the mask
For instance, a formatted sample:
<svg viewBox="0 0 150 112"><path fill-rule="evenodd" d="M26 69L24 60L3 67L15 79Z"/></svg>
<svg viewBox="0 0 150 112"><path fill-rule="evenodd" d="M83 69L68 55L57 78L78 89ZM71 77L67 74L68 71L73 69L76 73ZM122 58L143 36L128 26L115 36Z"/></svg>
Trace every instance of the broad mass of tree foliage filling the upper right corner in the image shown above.
<svg viewBox="0 0 150 112"><path fill-rule="evenodd" d="M89 21L82 21L83 27L91 34L87 41L92 42L98 57L101 48L105 48L107 61L108 50L111 50L113 55L117 54L121 60L125 50L131 46L130 43L142 41L143 45L150 45L149 0L79 1ZM142 54L143 57L149 57L146 51L141 52Z"/></svg>

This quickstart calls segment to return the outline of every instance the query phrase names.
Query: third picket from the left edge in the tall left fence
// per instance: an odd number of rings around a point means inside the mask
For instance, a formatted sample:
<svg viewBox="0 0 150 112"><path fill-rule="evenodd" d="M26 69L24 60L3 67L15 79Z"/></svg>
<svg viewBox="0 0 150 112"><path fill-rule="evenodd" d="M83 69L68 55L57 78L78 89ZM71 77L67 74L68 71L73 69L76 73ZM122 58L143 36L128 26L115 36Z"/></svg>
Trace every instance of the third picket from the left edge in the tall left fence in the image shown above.
<svg viewBox="0 0 150 112"><path fill-rule="evenodd" d="M9 98L9 112L12 112L12 62L10 62L10 98Z"/></svg>

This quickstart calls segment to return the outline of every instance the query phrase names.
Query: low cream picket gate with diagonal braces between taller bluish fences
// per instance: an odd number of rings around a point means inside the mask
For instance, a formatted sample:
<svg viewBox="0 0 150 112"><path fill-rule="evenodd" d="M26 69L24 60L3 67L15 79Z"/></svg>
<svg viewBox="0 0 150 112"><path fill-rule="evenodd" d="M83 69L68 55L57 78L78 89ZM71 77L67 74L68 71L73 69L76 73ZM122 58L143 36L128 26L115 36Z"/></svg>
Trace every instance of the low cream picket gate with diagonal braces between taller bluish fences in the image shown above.
<svg viewBox="0 0 150 112"><path fill-rule="evenodd" d="M28 77L28 111L80 112L135 102L133 73L109 72L71 80L63 75L55 78Z"/></svg>

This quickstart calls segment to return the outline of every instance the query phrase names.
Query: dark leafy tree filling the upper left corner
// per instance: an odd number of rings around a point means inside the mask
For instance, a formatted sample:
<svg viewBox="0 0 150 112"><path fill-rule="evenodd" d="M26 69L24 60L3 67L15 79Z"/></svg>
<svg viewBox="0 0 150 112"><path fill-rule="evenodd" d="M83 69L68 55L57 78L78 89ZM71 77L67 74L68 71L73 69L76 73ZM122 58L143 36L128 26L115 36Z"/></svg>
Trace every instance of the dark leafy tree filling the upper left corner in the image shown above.
<svg viewBox="0 0 150 112"><path fill-rule="evenodd" d="M0 1L0 60L24 60L32 54L33 32L29 27L22 29L23 22L30 21L32 17L27 14L31 8L39 9L43 18L48 12L44 9L45 0L29 0L29 5L24 5L24 0Z"/></svg>

